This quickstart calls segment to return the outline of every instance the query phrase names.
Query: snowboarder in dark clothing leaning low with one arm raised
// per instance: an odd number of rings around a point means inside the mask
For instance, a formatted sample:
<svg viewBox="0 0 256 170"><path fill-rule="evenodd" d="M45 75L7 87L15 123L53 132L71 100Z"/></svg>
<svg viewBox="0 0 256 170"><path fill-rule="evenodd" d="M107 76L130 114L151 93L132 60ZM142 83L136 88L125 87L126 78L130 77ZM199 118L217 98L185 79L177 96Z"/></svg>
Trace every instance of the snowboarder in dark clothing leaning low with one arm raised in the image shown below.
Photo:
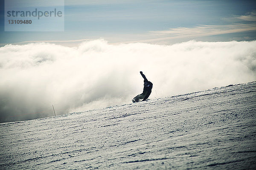
<svg viewBox="0 0 256 170"><path fill-rule="evenodd" d="M143 99L142 101L145 101L146 99L148 99L148 96L151 94L151 90L153 88L153 83L148 81L148 79L145 77L142 71L140 71L140 74L144 79L144 88L143 88L142 94L139 94L136 97L134 97L135 102L139 102L140 99Z"/></svg>

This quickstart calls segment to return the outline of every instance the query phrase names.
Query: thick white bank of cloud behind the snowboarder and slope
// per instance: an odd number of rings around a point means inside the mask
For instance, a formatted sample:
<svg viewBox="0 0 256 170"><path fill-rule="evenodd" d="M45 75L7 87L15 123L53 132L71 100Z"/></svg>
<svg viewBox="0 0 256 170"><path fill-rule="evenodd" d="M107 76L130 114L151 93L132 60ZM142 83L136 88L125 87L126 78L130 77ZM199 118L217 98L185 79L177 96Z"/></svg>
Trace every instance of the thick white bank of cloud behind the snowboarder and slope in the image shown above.
<svg viewBox="0 0 256 170"><path fill-rule="evenodd" d="M51 43L0 48L0 122L35 119L131 102L153 82L149 98L256 80L256 41L78 47Z"/></svg>

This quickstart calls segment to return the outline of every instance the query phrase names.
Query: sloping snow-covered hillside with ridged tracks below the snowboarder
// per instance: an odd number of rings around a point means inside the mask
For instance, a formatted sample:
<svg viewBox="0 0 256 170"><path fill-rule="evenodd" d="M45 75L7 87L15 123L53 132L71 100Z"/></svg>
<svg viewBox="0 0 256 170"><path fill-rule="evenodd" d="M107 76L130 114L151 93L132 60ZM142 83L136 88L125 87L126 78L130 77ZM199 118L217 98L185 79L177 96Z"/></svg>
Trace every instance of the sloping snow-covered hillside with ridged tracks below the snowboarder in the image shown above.
<svg viewBox="0 0 256 170"><path fill-rule="evenodd" d="M256 168L256 82L0 124L0 169Z"/></svg>

